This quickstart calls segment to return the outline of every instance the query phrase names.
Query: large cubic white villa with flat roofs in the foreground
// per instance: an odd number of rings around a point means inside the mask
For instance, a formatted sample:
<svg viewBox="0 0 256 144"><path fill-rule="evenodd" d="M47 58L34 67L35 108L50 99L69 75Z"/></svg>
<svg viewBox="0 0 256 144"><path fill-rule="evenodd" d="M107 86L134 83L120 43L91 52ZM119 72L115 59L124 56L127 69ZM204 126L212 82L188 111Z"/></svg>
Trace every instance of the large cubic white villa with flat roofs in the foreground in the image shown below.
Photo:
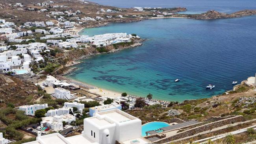
<svg viewBox="0 0 256 144"><path fill-rule="evenodd" d="M147 144L141 137L141 120L119 109L98 112L83 120L81 135L63 137L59 133L41 136L25 144Z"/></svg>

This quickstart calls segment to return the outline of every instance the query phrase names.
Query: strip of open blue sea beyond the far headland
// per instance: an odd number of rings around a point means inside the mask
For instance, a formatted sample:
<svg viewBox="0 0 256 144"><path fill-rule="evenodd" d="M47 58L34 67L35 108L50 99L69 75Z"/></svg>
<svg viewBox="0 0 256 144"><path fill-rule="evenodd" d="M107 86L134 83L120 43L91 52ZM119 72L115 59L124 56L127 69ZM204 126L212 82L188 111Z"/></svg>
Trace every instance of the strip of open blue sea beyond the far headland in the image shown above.
<svg viewBox="0 0 256 144"><path fill-rule="evenodd" d="M216 10L233 13L243 9L255 9L256 0L90 0L98 4L116 7L186 7L185 13L203 13ZM184 13L184 12L182 12Z"/></svg>

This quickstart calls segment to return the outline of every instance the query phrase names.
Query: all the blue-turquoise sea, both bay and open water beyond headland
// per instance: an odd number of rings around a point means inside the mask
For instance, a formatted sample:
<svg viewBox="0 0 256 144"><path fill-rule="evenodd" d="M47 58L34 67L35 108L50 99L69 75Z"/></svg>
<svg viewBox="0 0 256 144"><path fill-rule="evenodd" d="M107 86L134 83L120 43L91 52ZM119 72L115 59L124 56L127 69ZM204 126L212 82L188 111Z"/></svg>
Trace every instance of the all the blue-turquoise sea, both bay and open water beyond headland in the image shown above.
<svg viewBox="0 0 256 144"><path fill-rule="evenodd" d="M117 7L187 7L232 13L256 9L255 0L93 0ZM231 90L256 72L256 16L217 20L166 18L88 28L80 35L135 33L142 46L82 60L67 77L136 96L178 101ZM174 82L180 79L179 82ZM206 86L212 84L210 90Z"/></svg>

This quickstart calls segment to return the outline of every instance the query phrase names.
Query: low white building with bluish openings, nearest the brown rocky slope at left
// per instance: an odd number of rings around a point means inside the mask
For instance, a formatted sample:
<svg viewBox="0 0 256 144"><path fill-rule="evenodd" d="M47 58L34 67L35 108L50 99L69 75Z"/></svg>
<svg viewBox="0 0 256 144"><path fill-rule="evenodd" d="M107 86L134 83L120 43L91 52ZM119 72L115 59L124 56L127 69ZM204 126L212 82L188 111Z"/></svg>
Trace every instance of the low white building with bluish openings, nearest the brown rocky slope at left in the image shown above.
<svg viewBox="0 0 256 144"><path fill-rule="evenodd" d="M20 111L24 111L24 114L33 116L35 115L35 111L39 109L45 109L48 107L48 104L34 104L34 105L22 105L19 107Z"/></svg>

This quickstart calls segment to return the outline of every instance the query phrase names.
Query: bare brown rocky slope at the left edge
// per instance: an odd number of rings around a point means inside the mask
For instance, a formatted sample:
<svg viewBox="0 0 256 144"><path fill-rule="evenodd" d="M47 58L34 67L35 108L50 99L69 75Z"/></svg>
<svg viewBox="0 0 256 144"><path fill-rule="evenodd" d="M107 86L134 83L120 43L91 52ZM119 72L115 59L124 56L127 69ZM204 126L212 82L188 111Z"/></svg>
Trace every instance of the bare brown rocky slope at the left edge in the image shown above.
<svg viewBox="0 0 256 144"><path fill-rule="evenodd" d="M36 93L37 87L32 83L0 74L0 107L7 103L26 103Z"/></svg>

